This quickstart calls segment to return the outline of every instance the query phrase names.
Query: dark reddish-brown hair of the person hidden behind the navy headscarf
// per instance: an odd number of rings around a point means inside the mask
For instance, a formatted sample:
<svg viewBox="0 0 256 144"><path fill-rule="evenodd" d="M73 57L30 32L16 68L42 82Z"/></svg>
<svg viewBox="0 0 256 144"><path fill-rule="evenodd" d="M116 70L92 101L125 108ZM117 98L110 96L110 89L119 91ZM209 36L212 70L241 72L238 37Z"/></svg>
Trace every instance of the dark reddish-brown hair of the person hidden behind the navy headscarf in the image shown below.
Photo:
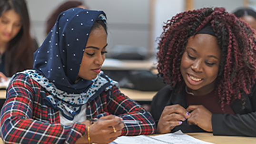
<svg viewBox="0 0 256 144"><path fill-rule="evenodd" d="M61 12L65 11L65 10L69 10L71 8L79 7L81 5L84 5L84 4L82 3L82 1L78 1L78 0L69 0L69 1L62 3L56 10L54 10L52 12L52 14L47 19L46 30L45 30L46 35L48 35L50 30L54 26L54 24Z"/></svg>

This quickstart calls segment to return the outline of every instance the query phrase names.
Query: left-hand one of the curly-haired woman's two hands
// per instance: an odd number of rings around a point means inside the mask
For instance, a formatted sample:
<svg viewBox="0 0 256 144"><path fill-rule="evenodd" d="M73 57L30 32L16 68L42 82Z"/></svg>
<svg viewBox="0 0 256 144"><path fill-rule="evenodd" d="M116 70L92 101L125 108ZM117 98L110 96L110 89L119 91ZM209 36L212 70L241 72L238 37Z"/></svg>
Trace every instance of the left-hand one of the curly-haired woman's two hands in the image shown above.
<svg viewBox="0 0 256 144"><path fill-rule="evenodd" d="M158 121L157 133L166 134L171 130L181 125L189 117L186 109L180 105L166 106Z"/></svg>

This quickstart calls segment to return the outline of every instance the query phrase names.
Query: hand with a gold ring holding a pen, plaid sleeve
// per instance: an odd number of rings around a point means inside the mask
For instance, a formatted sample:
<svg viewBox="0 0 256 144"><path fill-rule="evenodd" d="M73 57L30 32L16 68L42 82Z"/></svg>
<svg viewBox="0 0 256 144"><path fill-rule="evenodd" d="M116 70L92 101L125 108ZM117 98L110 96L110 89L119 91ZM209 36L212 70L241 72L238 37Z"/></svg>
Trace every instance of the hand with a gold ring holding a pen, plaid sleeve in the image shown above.
<svg viewBox="0 0 256 144"><path fill-rule="evenodd" d="M99 118L99 120L90 126L90 143L108 144L122 134L124 123L122 118L115 115L108 115Z"/></svg>

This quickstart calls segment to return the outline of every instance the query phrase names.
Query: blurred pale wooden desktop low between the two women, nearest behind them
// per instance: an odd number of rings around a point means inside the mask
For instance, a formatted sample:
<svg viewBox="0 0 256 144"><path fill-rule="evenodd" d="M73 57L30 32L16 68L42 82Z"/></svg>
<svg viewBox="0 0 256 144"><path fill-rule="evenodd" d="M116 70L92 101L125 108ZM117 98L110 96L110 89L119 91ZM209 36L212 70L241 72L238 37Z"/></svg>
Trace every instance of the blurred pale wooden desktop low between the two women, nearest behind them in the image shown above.
<svg viewBox="0 0 256 144"><path fill-rule="evenodd" d="M119 90L130 99L135 101L152 101L157 92L138 91L127 88L119 88Z"/></svg>

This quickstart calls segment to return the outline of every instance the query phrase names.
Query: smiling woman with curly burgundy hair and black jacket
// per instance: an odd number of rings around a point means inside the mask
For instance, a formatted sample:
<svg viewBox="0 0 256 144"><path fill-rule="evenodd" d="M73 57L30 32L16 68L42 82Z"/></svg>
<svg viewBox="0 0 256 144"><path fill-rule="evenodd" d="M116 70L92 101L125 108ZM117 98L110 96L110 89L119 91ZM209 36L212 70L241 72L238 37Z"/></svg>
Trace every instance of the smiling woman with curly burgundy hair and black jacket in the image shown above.
<svg viewBox="0 0 256 144"><path fill-rule="evenodd" d="M154 96L157 133L256 136L254 30L224 8L177 14L163 27Z"/></svg>

